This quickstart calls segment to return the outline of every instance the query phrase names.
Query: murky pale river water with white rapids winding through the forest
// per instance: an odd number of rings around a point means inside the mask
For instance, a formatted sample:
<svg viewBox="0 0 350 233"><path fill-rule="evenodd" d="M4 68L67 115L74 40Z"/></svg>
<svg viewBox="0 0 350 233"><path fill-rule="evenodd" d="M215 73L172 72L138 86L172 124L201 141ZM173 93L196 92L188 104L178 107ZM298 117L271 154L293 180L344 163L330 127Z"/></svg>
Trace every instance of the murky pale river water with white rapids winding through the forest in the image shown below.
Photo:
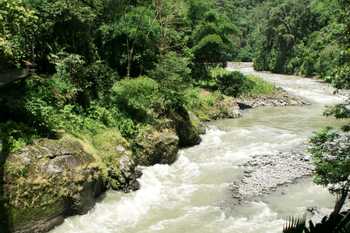
<svg viewBox="0 0 350 233"><path fill-rule="evenodd" d="M239 164L255 154L291 150L318 128L344 122L322 116L325 105L343 100L326 84L255 72L250 64L231 69L254 73L312 105L258 108L212 122L202 143L180 151L173 165L144 168L139 191L108 192L87 215L68 218L51 233L280 233L288 216L331 208L332 197L311 179L233 205L230 185L242 173Z"/></svg>

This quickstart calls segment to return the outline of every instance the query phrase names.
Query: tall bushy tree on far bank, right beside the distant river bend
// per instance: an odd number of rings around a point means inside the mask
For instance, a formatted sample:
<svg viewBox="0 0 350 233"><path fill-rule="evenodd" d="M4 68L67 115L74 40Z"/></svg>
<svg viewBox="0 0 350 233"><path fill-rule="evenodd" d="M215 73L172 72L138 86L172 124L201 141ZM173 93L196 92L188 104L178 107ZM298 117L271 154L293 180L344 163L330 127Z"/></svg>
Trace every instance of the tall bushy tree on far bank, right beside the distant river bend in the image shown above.
<svg viewBox="0 0 350 233"><path fill-rule="evenodd" d="M268 2L266 20L258 23L262 36L257 38L255 68L279 73L293 73L296 46L319 29L317 15L311 11L310 0L286 0L279 5Z"/></svg>

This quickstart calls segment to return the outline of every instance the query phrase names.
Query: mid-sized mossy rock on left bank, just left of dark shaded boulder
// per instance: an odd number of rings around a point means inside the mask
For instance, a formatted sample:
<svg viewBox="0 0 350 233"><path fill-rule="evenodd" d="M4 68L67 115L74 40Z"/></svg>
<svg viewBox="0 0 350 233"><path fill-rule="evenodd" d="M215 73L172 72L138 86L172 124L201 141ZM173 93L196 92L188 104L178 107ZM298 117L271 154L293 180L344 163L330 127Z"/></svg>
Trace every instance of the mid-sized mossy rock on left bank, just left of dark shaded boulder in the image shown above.
<svg viewBox="0 0 350 233"><path fill-rule="evenodd" d="M148 129L138 135L133 148L139 165L171 164L177 159L179 137L170 129Z"/></svg>

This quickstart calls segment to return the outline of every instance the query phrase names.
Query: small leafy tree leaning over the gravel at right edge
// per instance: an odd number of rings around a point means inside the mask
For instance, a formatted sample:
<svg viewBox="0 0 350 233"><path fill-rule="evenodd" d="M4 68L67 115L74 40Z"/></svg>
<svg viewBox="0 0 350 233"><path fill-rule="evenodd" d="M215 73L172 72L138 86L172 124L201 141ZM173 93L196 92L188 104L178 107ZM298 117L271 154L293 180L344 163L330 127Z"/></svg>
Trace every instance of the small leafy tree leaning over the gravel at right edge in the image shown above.
<svg viewBox="0 0 350 233"><path fill-rule="evenodd" d="M338 196L332 215L338 214L350 189L350 133L327 128L310 140L309 151L316 166L315 183Z"/></svg>

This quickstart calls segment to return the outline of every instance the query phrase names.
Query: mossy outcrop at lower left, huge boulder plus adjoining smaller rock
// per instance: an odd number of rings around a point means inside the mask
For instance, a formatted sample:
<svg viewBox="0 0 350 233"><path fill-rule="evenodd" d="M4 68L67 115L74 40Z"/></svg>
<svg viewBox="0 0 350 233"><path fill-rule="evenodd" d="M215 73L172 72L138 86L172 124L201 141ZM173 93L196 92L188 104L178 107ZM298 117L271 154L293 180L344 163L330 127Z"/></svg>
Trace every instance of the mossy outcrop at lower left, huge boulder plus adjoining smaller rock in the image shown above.
<svg viewBox="0 0 350 233"><path fill-rule="evenodd" d="M140 187L130 145L113 129L88 143L69 135L38 140L10 154L4 167L6 222L15 233L47 232L87 213L107 189Z"/></svg>

